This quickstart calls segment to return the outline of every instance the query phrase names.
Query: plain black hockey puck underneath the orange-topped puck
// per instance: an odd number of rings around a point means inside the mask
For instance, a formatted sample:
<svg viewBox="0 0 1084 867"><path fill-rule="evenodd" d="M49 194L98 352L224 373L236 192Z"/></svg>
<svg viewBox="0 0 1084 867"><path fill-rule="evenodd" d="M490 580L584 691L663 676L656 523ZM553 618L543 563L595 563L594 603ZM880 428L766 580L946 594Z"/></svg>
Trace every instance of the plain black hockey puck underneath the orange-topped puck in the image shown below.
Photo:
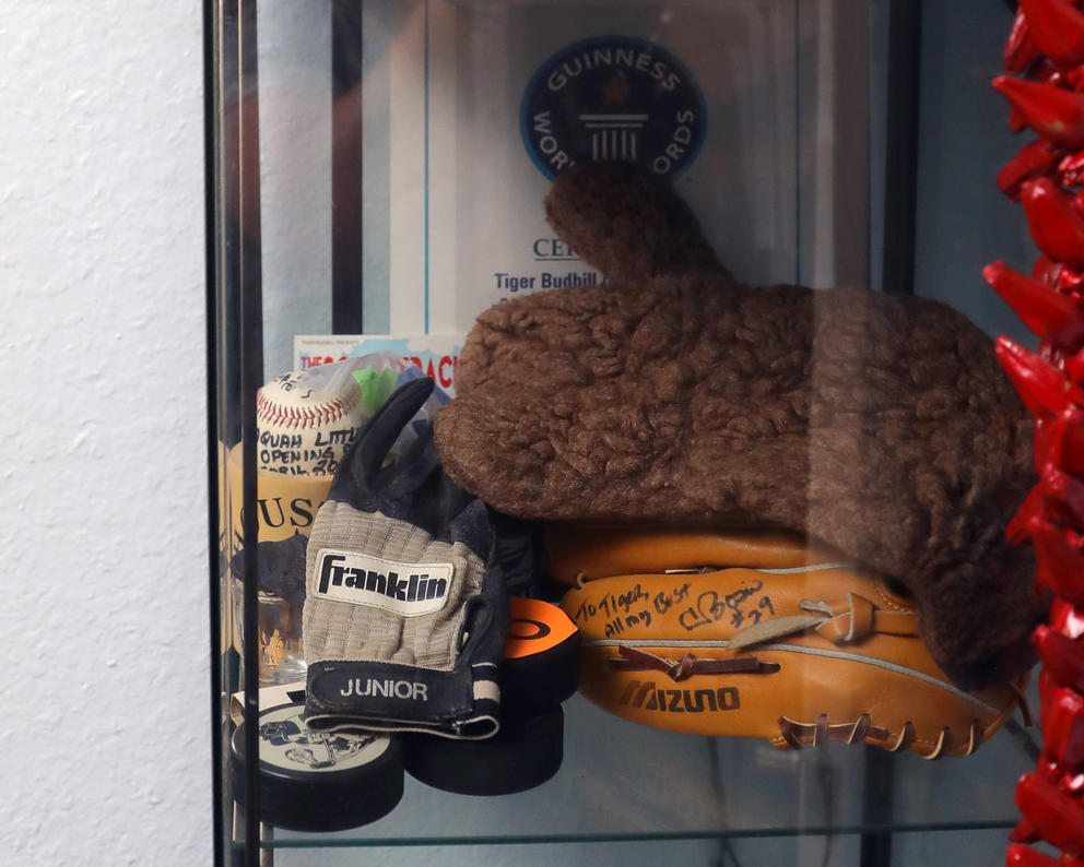
<svg viewBox="0 0 1084 867"><path fill-rule="evenodd" d="M408 773L434 788L457 795L511 795L557 773L564 743L565 714L557 704L506 721L484 740L410 735L403 755Z"/></svg>

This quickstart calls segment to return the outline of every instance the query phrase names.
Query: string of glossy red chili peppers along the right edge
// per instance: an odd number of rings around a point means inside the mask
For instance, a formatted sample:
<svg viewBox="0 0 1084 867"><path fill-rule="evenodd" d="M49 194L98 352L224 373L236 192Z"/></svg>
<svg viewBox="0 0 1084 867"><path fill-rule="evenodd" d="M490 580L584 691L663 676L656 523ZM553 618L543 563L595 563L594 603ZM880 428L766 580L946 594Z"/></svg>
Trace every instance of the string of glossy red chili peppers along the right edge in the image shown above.
<svg viewBox="0 0 1084 867"><path fill-rule="evenodd" d="M1035 415L1039 484L1006 527L1030 537L1036 598L1049 626L1032 633L1039 672L1042 757L1020 779L1021 821L1005 864L1084 867L1084 0L1020 0L994 88L1009 124L1040 135L998 174L1041 251L1028 280L994 262L983 276L1040 340L1037 354L1004 337L998 358ZM1044 841L1052 857L1027 845Z"/></svg>

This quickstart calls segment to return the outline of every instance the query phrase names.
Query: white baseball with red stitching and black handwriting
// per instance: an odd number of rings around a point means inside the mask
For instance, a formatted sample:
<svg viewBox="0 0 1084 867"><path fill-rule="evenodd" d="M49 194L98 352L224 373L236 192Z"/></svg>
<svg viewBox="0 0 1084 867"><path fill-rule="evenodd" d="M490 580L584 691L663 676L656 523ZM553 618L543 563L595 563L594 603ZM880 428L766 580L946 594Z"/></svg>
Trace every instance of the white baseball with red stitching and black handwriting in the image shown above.
<svg viewBox="0 0 1084 867"><path fill-rule="evenodd" d="M317 372L319 371L319 372ZM256 394L260 470L284 475L331 475L365 423L362 390L349 369L294 370Z"/></svg>

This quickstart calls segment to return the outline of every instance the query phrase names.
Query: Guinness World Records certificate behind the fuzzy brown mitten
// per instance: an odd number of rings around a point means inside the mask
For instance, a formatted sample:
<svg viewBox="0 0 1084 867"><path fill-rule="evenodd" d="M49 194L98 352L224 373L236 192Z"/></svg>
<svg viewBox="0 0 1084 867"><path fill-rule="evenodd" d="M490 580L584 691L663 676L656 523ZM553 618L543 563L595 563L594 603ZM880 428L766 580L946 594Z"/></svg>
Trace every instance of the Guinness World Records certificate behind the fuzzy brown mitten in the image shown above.
<svg viewBox="0 0 1084 867"><path fill-rule="evenodd" d="M803 26L779 0L415 2L388 57L389 331L596 283L545 222L574 162L670 179L737 276L800 280Z"/></svg>

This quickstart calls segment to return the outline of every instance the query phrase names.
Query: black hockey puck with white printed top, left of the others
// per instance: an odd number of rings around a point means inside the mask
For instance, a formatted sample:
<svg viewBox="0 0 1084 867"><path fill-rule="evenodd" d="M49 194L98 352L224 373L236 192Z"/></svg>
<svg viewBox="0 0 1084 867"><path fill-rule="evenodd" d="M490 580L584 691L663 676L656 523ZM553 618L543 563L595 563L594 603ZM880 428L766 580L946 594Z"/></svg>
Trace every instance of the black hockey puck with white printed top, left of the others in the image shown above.
<svg viewBox="0 0 1084 867"><path fill-rule="evenodd" d="M342 831L389 813L403 795L399 740L314 732L304 712L304 703L260 712L261 820L294 831ZM244 723L231 739L231 759L244 809Z"/></svg>

